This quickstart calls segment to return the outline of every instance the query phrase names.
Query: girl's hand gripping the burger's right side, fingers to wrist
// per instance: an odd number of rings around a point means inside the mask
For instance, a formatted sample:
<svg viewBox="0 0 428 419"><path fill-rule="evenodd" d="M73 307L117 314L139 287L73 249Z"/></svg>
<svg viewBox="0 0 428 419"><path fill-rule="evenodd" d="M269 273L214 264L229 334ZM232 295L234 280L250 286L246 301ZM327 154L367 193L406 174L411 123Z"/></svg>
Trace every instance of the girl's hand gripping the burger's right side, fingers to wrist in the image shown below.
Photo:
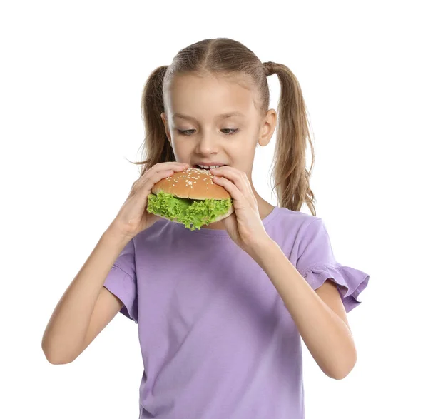
<svg viewBox="0 0 428 419"><path fill-rule="evenodd" d="M223 186L233 198L235 212L221 220L230 238L250 255L260 243L270 240L265 231L258 211L257 199L243 171L230 166L221 166L210 170L213 182Z"/></svg>

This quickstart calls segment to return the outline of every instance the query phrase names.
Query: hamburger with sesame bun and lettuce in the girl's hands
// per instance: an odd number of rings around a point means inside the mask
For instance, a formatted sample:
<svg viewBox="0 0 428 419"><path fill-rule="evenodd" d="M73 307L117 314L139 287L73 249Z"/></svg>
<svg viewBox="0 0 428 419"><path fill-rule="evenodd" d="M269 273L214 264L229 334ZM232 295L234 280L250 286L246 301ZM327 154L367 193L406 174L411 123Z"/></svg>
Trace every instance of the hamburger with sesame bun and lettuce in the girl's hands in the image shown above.
<svg viewBox="0 0 428 419"><path fill-rule="evenodd" d="M190 230L223 220L233 213L233 200L212 178L209 170L187 168L161 179L148 195L148 213Z"/></svg>

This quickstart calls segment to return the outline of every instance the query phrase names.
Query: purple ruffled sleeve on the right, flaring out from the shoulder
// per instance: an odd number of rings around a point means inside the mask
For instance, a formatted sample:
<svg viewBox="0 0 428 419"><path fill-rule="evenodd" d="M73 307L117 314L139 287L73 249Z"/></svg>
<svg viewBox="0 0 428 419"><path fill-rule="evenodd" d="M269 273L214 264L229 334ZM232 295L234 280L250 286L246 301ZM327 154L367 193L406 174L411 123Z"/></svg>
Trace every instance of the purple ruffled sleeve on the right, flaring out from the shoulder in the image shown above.
<svg viewBox="0 0 428 419"><path fill-rule="evenodd" d="M307 226L296 268L314 290L329 278L334 281L347 313L360 305L360 293L370 278L367 273L336 261L325 223L319 217Z"/></svg>

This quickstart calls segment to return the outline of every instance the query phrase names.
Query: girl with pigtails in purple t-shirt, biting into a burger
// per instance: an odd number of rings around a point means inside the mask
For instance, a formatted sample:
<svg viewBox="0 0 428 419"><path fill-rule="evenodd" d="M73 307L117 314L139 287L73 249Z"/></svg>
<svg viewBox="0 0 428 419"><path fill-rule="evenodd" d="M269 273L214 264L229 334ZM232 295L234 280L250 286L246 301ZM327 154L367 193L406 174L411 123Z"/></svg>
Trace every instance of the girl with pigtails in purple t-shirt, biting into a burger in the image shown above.
<svg viewBox="0 0 428 419"><path fill-rule="evenodd" d="M356 361L346 313L369 276L335 260L315 216L297 79L238 41L205 39L151 73L141 109L148 159L52 314L46 358L72 362L120 311L138 323L140 418L304 418L300 336L326 375L345 378ZM276 124L280 206L252 181L255 148ZM190 231L146 212L162 178L219 165L211 172L233 198L228 218Z"/></svg>

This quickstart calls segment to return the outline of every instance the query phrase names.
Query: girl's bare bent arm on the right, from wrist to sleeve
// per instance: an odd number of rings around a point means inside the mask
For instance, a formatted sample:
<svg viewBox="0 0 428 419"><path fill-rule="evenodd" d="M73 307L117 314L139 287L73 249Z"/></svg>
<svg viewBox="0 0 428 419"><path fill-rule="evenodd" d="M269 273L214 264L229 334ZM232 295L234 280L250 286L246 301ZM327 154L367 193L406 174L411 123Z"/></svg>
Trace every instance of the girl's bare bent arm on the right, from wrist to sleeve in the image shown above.
<svg viewBox="0 0 428 419"><path fill-rule="evenodd" d="M312 290L275 241L267 241L251 256L277 289L322 371L331 378L345 377L356 361L347 325Z"/></svg>

